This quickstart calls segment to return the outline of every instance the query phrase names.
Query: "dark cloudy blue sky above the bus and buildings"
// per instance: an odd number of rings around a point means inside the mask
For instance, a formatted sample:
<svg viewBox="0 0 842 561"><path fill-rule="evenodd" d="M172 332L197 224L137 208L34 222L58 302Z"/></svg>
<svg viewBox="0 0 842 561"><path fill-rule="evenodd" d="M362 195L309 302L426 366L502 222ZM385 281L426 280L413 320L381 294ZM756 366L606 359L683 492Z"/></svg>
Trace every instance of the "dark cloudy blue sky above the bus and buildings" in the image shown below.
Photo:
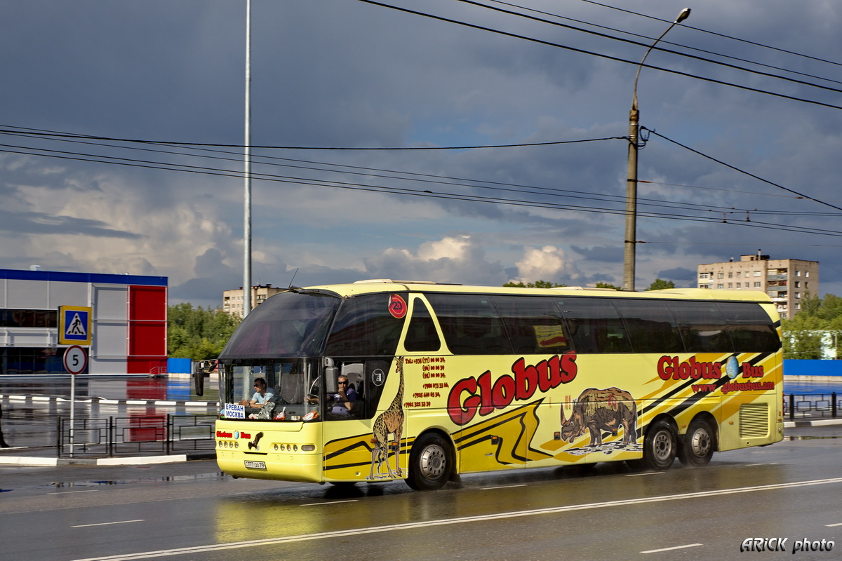
<svg viewBox="0 0 842 561"><path fill-rule="evenodd" d="M617 138L636 65L576 50L640 61L646 48L455 0L384 3L574 50L355 0L253 0L253 145L615 140L255 149L253 172L265 175L253 180L253 282L621 284ZM842 294L840 109L820 104L842 106L838 3L480 3L645 45L689 6L659 45L809 82L653 50L647 64L691 76L644 68L642 125L826 204L651 135L636 285L695 286L697 264L761 249L820 262L822 294ZM27 0L0 5L0 22L0 130L235 146L4 132L0 267L164 275L171 303L221 304L242 284L245 1Z"/></svg>

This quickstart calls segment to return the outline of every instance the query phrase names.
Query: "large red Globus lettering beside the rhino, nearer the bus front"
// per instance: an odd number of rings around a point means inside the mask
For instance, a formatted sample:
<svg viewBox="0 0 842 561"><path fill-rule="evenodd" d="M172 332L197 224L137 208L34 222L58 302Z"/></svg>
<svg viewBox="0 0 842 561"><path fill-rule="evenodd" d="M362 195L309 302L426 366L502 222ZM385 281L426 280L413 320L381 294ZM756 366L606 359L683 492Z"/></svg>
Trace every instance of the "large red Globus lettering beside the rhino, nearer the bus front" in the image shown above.
<svg viewBox="0 0 842 561"><path fill-rule="evenodd" d="M447 413L457 425L466 425L474 415L488 415L495 409L503 409L512 401L529 400L536 391L542 393L568 384L576 378L576 353L565 352L535 365L526 366L523 357L512 364L512 373L500 376L491 383L491 371L486 370L479 378L463 378L453 384L447 397ZM468 395L463 400L462 394Z"/></svg>

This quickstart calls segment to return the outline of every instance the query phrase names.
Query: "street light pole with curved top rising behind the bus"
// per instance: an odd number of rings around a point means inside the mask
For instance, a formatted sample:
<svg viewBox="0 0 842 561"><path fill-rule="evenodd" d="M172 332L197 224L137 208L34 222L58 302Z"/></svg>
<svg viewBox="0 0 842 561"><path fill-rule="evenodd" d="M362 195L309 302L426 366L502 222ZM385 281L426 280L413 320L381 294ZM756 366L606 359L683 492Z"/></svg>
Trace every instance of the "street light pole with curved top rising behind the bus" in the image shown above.
<svg viewBox="0 0 842 561"><path fill-rule="evenodd" d="M634 291L635 246L637 244L637 132L639 130L638 124L640 123L640 112L637 110L637 78L640 77L643 62L646 61L646 57L649 56L653 47L658 44L659 40L663 39L663 36L669 32L669 29L673 29L675 24L681 23L688 16L690 16L690 8L681 10L678 18L649 46L640 64L637 65L637 74L634 77L632 110L629 111L629 153L626 175L626 239L623 244L623 290L630 290L632 292Z"/></svg>

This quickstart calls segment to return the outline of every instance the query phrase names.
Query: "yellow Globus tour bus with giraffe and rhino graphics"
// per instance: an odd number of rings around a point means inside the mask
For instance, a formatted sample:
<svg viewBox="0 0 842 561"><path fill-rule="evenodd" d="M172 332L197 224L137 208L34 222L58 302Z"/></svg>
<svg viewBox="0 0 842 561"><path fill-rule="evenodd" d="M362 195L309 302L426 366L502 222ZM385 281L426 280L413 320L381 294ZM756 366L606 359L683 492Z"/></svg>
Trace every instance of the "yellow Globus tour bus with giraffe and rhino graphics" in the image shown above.
<svg viewBox="0 0 842 561"><path fill-rule="evenodd" d="M766 294L388 279L290 288L219 357L216 458L235 477L405 479L675 458L783 437Z"/></svg>

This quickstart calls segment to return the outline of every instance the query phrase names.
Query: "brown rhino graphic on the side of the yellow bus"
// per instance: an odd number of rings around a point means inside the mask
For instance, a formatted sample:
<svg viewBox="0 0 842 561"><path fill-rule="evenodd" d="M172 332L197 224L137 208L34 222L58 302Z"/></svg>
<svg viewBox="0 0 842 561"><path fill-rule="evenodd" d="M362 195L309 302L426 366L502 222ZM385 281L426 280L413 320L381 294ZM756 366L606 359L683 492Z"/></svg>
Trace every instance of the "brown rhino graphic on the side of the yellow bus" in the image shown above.
<svg viewBox="0 0 842 561"><path fill-rule="evenodd" d="M623 444L637 442L637 405L632 394L624 389L585 389L578 400L573 401L573 413L565 418L562 405L562 440L573 442L590 431L588 446L602 444L602 431L616 436L623 427Z"/></svg>

